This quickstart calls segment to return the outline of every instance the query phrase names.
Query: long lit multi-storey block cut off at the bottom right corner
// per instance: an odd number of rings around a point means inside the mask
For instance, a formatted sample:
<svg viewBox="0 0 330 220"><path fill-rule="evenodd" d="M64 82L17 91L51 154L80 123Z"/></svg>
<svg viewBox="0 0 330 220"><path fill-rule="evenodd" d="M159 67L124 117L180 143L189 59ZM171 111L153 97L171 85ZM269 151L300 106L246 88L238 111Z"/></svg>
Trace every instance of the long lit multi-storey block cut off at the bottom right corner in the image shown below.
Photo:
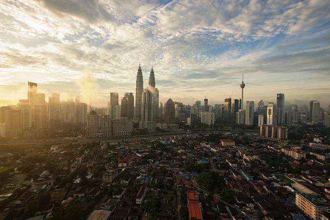
<svg viewBox="0 0 330 220"><path fill-rule="evenodd" d="M321 213L330 210L330 204L324 199L306 193L295 193L295 204L313 220L321 220Z"/></svg>

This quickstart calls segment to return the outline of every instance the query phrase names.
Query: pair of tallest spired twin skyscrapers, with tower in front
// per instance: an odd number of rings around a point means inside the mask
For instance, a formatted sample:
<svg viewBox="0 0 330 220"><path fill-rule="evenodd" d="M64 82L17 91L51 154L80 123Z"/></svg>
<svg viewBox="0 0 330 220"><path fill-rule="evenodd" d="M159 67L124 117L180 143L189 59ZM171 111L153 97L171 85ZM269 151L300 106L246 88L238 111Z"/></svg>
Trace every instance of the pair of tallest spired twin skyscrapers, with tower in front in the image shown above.
<svg viewBox="0 0 330 220"><path fill-rule="evenodd" d="M142 122L141 128L144 128L145 122L157 121L158 119L159 91L155 86L156 82L151 66L148 87L143 88L143 75L139 65L136 75L135 118Z"/></svg>

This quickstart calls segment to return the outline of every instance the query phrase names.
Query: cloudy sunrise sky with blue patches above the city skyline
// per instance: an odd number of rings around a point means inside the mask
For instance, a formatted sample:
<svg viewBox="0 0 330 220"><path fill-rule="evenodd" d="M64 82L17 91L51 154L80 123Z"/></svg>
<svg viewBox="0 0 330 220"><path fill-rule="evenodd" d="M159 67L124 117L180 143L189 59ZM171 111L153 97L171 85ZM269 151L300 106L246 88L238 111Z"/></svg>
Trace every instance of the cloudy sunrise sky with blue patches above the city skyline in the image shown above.
<svg viewBox="0 0 330 220"><path fill-rule="evenodd" d="M330 1L0 1L0 105L38 91L105 106L144 87L159 99L330 104ZM257 103L255 103L256 105Z"/></svg>

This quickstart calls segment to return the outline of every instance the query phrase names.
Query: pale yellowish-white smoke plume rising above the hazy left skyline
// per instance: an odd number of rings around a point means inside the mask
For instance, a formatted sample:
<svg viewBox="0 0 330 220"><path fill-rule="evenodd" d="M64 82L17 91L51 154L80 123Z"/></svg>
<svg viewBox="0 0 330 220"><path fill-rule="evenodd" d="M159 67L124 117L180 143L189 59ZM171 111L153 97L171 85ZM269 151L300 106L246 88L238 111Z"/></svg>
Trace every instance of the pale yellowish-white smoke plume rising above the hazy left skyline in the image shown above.
<svg viewBox="0 0 330 220"><path fill-rule="evenodd" d="M77 80L76 84L80 88L80 99L89 104L97 97L99 85L92 73L86 73L83 77Z"/></svg>

